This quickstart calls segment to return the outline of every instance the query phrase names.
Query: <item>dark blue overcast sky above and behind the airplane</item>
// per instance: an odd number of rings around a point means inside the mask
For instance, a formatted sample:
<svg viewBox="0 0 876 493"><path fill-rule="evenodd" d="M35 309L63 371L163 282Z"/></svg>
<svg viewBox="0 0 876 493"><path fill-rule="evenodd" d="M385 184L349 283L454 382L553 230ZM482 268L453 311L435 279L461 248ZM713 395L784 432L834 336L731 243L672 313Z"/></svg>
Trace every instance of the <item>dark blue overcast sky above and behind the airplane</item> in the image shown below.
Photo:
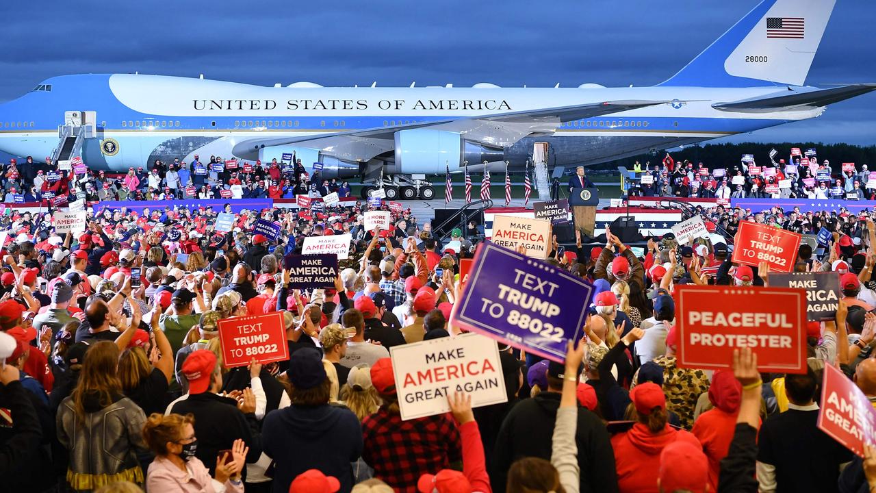
<svg viewBox="0 0 876 493"><path fill-rule="evenodd" d="M135 71L263 85L651 85L757 3L4 2L0 101L53 75ZM874 14L872 2L837 2L807 83L876 82ZM734 139L872 145L874 124L871 93Z"/></svg>

